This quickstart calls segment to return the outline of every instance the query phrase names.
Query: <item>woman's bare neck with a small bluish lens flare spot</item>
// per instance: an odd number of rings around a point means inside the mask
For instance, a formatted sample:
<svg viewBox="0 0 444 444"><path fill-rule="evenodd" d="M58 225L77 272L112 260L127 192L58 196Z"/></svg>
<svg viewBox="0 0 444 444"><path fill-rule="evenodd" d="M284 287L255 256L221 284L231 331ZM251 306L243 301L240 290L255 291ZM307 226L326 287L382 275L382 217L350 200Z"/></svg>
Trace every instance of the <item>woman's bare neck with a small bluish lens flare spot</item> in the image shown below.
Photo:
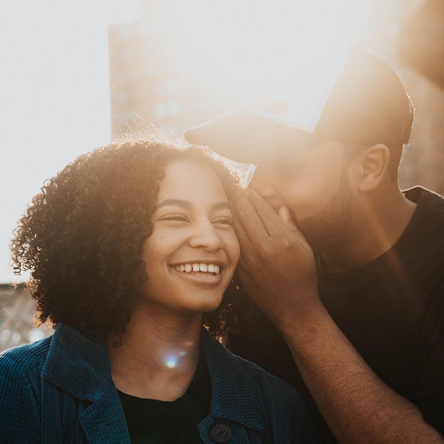
<svg viewBox="0 0 444 444"><path fill-rule="evenodd" d="M120 391L172 401L193 379L199 358L202 313L175 313L145 301L132 314L122 345L108 337L111 375Z"/></svg>

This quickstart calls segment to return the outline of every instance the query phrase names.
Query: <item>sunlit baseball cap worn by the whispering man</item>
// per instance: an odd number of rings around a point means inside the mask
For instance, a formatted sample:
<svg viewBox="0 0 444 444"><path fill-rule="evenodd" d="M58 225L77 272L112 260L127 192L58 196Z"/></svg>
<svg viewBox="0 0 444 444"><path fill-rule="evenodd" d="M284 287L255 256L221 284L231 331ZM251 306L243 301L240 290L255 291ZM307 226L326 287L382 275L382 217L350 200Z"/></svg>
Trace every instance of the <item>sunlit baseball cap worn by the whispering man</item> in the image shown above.
<svg viewBox="0 0 444 444"><path fill-rule="evenodd" d="M395 72L365 48L337 44L270 71L241 109L188 129L185 139L245 163L282 157L318 139L408 143L412 103Z"/></svg>

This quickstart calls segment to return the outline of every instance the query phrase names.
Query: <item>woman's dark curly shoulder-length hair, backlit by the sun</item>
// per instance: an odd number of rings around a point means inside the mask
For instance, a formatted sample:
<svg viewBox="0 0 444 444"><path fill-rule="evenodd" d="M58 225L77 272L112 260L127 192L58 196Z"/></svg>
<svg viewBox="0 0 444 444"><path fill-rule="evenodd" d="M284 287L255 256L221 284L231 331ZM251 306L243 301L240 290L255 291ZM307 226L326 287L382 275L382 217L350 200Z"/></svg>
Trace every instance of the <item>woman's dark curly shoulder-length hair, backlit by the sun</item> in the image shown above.
<svg viewBox="0 0 444 444"><path fill-rule="evenodd" d="M213 168L230 198L238 178L210 152L145 141L97 148L44 182L10 244L15 274L31 270L36 325L64 322L95 341L125 332L147 279L140 251L163 168L190 157ZM223 335L238 293L232 281L222 305L205 315L214 335Z"/></svg>

